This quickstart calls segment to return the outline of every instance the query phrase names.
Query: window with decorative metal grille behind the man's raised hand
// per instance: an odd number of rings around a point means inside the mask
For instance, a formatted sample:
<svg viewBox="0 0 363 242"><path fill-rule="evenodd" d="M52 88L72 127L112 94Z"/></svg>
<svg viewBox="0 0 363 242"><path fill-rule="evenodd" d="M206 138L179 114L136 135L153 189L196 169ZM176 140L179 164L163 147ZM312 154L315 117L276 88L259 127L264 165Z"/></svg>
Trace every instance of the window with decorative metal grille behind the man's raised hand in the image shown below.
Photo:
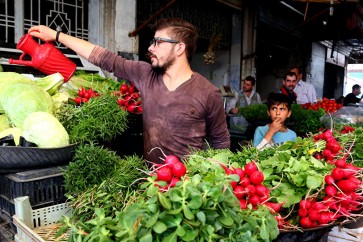
<svg viewBox="0 0 363 242"><path fill-rule="evenodd" d="M17 31L39 24L88 40L88 0L0 0L0 47L15 47Z"/></svg>

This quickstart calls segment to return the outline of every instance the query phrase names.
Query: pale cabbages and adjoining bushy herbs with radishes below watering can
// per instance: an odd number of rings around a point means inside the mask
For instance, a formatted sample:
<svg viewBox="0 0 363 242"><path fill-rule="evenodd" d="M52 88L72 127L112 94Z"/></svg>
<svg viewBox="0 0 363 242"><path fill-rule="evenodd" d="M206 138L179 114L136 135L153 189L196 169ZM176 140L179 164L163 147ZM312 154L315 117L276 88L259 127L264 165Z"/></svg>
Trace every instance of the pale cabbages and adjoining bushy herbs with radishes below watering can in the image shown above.
<svg viewBox="0 0 363 242"><path fill-rule="evenodd" d="M1 72L0 138L12 136L21 146L22 137L26 145L42 148L112 140L127 129L128 112L119 107L114 94L125 85L84 72L66 83L59 73L32 80ZM137 95L137 113L141 113L140 93L131 89L125 94Z"/></svg>

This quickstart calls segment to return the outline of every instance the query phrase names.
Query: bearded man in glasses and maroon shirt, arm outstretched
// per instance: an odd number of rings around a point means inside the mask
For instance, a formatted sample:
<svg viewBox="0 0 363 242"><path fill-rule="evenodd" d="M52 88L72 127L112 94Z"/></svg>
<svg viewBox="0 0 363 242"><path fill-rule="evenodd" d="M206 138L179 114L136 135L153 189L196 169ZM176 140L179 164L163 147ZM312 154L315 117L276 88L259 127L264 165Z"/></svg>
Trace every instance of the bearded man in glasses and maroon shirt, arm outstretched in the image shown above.
<svg viewBox="0 0 363 242"><path fill-rule="evenodd" d="M143 102L144 158L162 163L159 149L180 158L193 149L230 147L219 89L191 69L197 31L181 19L162 19L155 25L149 47L150 63L126 60L100 46L46 26L29 33L43 41L62 43L81 57L116 77L129 80Z"/></svg>

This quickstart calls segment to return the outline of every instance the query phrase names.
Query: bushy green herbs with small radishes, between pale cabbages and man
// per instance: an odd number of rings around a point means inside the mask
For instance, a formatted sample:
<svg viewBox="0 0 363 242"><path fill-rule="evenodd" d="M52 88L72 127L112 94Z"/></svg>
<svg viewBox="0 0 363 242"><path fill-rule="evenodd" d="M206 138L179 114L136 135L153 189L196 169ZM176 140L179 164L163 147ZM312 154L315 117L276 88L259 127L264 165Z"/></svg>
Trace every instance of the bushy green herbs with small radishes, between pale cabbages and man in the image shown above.
<svg viewBox="0 0 363 242"><path fill-rule="evenodd" d="M125 81L84 72L77 72L62 85L59 92L68 93L70 98L67 105L59 108L56 117L69 133L71 142L112 142L129 128L131 112L120 108L118 103L118 93L125 85L128 85ZM140 93L137 94L140 99Z"/></svg>

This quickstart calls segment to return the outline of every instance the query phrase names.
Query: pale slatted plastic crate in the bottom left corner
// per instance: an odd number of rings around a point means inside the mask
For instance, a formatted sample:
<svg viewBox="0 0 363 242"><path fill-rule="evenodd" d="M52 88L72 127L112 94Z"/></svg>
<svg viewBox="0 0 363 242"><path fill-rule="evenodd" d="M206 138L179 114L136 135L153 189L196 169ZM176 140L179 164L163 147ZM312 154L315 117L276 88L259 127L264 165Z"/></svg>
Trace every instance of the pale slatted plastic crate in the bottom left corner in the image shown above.
<svg viewBox="0 0 363 242"><path fill-rule="evenodd" d="M52 235L57 232L57 229L54 229L52 225L56 225L62 216L69 216L71 212L67 203L32 209L29 197L18 197L14 200L16 212L13 223L16 226L16 242L55 241Z"/></svg>

